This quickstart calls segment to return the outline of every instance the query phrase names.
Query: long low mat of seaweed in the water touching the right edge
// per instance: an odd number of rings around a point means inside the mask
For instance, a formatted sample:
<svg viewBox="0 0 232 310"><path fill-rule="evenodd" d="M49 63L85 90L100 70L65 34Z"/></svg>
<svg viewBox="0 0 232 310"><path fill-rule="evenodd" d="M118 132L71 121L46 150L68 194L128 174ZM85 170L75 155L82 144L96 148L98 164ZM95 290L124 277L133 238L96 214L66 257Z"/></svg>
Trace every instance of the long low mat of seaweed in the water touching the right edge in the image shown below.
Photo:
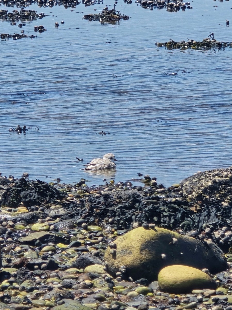
<svg viewBox="0 0 232 310"><path fill-rule="evenodd" d="M202 42L198 42L195 40L188 40L175 42L174 40L170 39L169 42L165 43L156 43L157 47L165 47L168 50L187 50L187 49L195 49L195 50L207 50L211 48L216 48L218 50L225 49L226 47L232 47L232 42L219 42L212 38L203 39Z"/></svg>

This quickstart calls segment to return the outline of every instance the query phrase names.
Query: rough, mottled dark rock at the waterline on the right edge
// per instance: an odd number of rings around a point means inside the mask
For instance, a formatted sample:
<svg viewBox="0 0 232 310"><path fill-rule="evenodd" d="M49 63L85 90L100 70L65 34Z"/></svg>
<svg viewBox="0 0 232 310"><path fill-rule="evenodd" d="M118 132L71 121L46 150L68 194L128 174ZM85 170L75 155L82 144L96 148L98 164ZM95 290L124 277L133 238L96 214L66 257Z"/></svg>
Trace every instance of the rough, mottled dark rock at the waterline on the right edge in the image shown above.
<svg viewBox="0 0 232 310"><path fill-rule="evenodd" d="M183 197L197 205L232 206L232 167L199 172L180 186Z"/></svg>

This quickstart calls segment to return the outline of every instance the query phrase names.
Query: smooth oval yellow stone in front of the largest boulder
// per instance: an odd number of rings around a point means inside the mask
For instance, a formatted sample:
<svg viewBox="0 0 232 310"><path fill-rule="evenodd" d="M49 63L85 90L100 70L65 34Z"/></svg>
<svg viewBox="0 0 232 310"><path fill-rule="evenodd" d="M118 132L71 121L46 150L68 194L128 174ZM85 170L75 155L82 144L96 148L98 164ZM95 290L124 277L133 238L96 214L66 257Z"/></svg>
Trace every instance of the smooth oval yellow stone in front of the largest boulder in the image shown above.
<svg viewBox="0 0 232 310"><path fill-rule="evenodd" d="M163 268L158 274L161 291L174 294L191 293L196 289L217 288L216 282L205 272L184 265L172 265Z"/></svg>

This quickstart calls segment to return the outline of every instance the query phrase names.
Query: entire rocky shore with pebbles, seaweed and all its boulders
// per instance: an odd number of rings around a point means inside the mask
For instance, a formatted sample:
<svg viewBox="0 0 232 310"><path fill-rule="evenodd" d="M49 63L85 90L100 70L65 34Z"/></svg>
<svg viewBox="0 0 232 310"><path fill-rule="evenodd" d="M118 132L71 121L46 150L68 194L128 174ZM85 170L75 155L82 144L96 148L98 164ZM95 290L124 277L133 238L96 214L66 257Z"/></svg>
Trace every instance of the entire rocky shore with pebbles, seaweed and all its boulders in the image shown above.
<svg viewBox="0 0 232 310"><path fill-rule="evenodd" d="M232 309L232 167L136 181L1 176L0 309Z"/></svg>

